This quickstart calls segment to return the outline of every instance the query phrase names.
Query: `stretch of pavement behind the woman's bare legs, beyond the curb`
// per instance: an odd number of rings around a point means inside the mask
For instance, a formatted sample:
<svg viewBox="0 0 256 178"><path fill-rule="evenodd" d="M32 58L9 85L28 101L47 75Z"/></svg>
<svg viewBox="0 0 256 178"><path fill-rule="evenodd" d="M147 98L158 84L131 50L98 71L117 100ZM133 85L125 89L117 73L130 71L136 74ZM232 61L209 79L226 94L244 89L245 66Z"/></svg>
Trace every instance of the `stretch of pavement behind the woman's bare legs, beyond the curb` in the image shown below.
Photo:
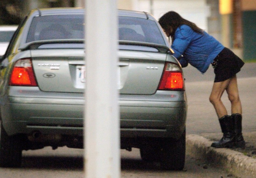
<svg viewBox="0 0 256 178"><path fill-rule="evenodd" d="M256 131L255 103L256 103L256 63L246 63L237 74L238 89L243 110L243 132ZM210 66L202 75L192 66L183 68L186 78L186 94L188 101L187 134L218 133L221 128L209 96L214 81L214 71ZM231 114L230 101L224 92L222 101Z"/></svg>

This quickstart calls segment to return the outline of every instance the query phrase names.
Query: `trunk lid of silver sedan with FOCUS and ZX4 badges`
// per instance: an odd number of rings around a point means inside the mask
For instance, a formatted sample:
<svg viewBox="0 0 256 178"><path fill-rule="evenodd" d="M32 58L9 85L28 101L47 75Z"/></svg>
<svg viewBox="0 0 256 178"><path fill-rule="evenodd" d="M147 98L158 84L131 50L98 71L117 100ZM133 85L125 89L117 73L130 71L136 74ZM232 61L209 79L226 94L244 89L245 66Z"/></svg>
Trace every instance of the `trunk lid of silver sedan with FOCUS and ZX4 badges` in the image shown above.
<svg viewBox="0 0 256 178"><path fill-rule="evenodd" d="M76 54L75 56L73 54ZM31 50L40 90L82 93L86 83L83 49ZM166 61L165 53L119 50L120 94L153 94L158 88Z"/></svg>

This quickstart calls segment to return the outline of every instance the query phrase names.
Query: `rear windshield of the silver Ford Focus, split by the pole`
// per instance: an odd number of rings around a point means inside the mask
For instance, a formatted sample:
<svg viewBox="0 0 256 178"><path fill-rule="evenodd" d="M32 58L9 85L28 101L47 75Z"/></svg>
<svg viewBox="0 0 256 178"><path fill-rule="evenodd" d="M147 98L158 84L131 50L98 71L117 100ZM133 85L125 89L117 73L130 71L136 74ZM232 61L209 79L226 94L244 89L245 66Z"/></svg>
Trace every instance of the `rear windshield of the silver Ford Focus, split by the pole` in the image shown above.
<svg viewBox="0 0 256 178"><path fill-rule="evenodd" d="M84 15L34 17L26 42L54 39L84 39ZM155 21L119 16L119 40L165 45Z"/></svg>

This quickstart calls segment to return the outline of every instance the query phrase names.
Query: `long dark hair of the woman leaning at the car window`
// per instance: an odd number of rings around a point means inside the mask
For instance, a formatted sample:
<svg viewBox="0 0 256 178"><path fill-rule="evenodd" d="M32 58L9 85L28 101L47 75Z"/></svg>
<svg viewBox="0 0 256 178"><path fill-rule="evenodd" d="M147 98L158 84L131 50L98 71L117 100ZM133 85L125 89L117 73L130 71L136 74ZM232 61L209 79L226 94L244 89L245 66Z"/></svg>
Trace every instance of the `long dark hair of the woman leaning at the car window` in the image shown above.
<svg viewBox="0 0 256 178"><path fill-rule="evenodd" d="M171 33L171 38L174 39L174 34L176 29L181 25L188 25L190 26L193 31L196 33L203 34L203 30L195 25L193 22L182 18L177 12L169 11L165 15L163 15L159 19L159 24L163 29L167 29L168 26L173 27L173 33Z"/></svg>

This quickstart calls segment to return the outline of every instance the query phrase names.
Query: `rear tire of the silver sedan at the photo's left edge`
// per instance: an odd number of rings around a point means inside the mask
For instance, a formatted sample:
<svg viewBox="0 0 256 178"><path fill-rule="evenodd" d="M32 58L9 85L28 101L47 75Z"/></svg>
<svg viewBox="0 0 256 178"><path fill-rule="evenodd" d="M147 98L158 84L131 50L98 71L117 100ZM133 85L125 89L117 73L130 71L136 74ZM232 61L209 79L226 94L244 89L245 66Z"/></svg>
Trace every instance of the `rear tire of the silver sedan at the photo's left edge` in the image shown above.
<svg viewBox="0 0 256 178"><path fill-rule="evenodd" d="M0 167L21 167L21 136L8 136L1 124L0 132Z"/></svg>

